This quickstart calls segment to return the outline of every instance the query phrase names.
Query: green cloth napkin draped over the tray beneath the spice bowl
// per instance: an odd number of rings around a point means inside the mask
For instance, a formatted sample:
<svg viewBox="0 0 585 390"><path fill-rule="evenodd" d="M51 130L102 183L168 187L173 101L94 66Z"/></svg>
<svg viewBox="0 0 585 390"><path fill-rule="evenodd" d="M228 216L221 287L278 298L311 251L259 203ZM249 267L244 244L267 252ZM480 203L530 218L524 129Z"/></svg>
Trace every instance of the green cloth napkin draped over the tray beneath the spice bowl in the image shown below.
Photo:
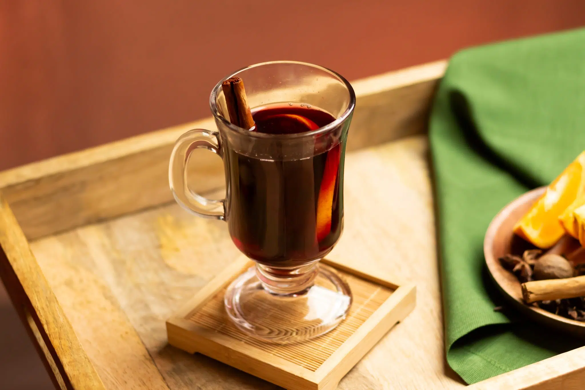
<svg viewBox="0 0 585 390"><path fill-rule="evenodd" d="M483 238L501 208L585 149L585 29L457 53L429 139L449 365L471 384L582 346L494 312Z"/></svg>

